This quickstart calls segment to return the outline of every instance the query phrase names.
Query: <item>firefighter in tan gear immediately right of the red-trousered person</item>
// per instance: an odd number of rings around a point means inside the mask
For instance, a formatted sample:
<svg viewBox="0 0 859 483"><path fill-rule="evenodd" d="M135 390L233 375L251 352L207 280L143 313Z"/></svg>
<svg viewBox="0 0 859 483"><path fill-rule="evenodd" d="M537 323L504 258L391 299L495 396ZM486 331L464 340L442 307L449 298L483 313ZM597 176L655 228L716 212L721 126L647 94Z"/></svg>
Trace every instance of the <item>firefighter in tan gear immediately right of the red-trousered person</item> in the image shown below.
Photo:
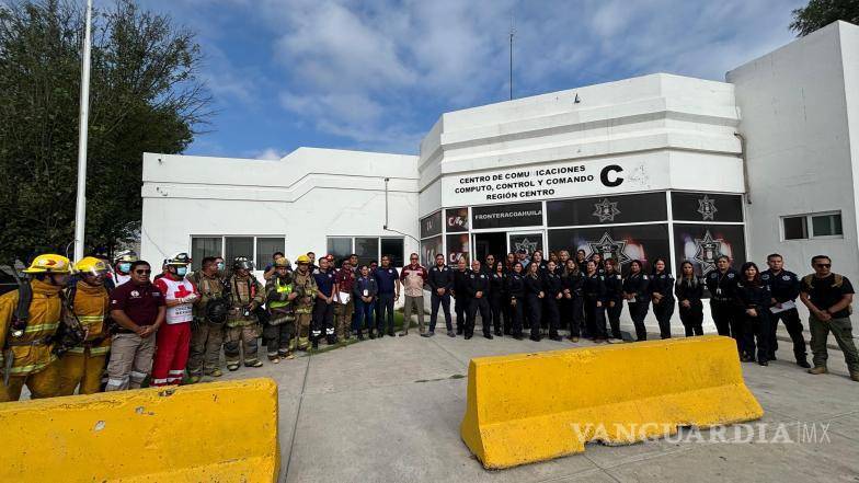
<svg viewBox="0 0 859 483"><path fill-rule="evenodd" d="M199 294L194 302L194 324L191 327L187 364L191 382L198 382L204 375L216 378L224 376L220 370L220 346L224 344L224 323L227 321L229 301L225 299L217 258L203 258L201 267L191 279Z"/></svg>

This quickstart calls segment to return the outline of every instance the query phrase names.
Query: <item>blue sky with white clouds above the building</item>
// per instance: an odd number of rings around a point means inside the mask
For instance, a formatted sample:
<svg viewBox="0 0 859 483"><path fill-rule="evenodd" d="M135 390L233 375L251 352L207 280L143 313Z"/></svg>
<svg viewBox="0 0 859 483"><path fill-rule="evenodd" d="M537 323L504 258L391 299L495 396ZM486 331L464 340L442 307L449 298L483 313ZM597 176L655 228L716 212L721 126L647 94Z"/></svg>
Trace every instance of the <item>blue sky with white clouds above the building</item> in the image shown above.
<svg viewBox="0 0 859 483"><path fill-rule="evenodd" d="M96 4L99 0L96 0ZM802 0L145 0L198 34L218 114L190 154L416 153L448 111L652 72L723 80Z"/></svg>

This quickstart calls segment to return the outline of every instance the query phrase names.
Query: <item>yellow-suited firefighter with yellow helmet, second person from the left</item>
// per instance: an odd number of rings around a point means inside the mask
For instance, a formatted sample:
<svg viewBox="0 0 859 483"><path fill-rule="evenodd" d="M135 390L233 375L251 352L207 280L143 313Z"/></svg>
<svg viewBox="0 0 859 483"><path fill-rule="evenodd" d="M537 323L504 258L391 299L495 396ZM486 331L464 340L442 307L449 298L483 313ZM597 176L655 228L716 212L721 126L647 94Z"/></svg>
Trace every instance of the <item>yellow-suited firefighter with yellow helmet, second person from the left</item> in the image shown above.
<svg viewBox="0 0 859 483"><path fill-rule="evenodd" d="M111 350L108 331L111 295L104 285L107 264L85 256L75 264L78 280L66 290L67 317L84 327L87 338L70 348L59 360L59 395L71 395L80 384L79 394L101 390L102 372Z"/></svg>

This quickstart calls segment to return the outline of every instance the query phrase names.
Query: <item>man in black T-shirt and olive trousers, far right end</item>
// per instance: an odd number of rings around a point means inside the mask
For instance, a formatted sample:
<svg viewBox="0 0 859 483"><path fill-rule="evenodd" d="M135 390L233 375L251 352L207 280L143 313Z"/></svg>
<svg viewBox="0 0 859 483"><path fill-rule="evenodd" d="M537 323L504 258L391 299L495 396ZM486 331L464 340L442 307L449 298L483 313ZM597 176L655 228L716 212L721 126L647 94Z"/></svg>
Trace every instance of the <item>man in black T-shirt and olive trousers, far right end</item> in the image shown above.
<svg viewBox="0 0 859 483"><path fill-rule="evenodd" d="M802 277L800 299L809 308L811 315L811 352L814 368L810 373L826 373L826 340L829 331L835 342L844 352L850 379L859 382L859 354L854 344L852 326L850 325L850 303L854 300L854 287L844 275L829 272L832 261L826 255L811 258L814 273Z"/></svg>

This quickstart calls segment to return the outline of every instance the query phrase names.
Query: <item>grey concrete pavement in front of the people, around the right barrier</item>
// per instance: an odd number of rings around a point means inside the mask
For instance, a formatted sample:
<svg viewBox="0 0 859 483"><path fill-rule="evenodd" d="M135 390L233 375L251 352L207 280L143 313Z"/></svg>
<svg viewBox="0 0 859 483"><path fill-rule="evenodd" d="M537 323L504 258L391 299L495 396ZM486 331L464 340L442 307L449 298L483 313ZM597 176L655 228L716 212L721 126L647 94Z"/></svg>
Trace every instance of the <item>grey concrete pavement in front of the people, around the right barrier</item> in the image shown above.
<svg viewBox="0 0 859 483"><path fill-rule="evenodd" d="M859 482L859 383L847 379L838 352L831 352L827 376L808 375L792 360L743 365L763 422L784 423L794 442L589 445L583 455L485 471L459 438L469 359L573 344L414 332L227 376L279 384L280 481ZM789 345L780 354L790 358ZM800 441L808 439L803 425L816 428L818 442Z"/></svg>

